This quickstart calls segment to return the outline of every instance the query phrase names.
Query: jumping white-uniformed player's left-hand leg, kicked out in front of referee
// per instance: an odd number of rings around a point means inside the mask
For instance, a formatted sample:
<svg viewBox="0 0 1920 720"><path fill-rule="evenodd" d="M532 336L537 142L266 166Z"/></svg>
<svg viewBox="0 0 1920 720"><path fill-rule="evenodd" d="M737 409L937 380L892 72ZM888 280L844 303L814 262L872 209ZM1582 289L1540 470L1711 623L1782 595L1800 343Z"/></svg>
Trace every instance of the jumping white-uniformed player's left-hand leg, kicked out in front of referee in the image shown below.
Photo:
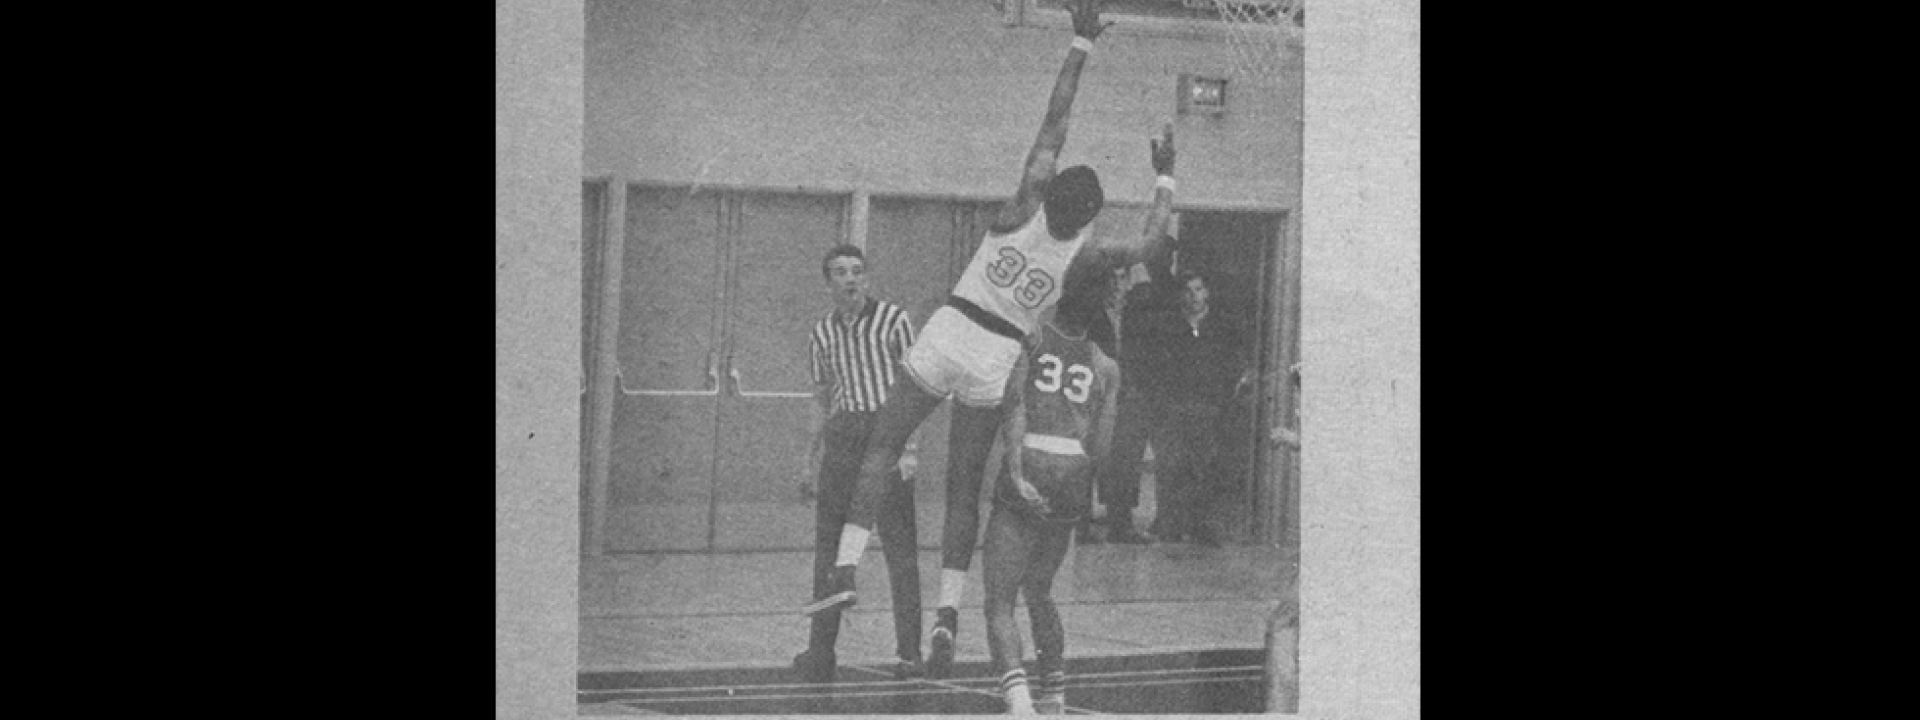
<svg viewBox="0 0 1920 720"><path fill-rule="evenodd" d="M841 524L839 553L835 553L833 572L828 578L828 593L808 603L803 612L814 614L829 607L854 603L854 564L866 555L866 541L887 497L887 478L899 472L906 440L939 403L939 396L922 390L910 378L902 378L889 388L887 401L874 419L874 432L868 434L866 453L862 453L858 472L854 474L852 505L847 509L847 522Z"/></svg>

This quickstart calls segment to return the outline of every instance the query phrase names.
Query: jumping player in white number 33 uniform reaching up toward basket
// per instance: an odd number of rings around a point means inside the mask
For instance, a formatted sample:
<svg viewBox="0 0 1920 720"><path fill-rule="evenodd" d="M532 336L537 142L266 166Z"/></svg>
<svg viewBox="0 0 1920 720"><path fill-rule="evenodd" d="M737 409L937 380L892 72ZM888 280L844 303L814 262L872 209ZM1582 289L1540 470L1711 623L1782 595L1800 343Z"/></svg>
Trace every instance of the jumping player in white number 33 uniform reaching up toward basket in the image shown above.
<svg viewBox="0 0 1920 720"><path fill-rule="evenodd" d="M868 455L860 463L852 509L841 528L839 557L828 589L806 605L814 614L854 603L854 564L866 553L876 513L885 497L889 468L900 459L908 436L947 397L954 399L947 447L947 516L941 530L941 597L933 624L927 676L943 678L952 662L960 595L979 538L979 486L1000 426L1000 397L1020 359L1020 342L1039 326L1039 317L1060 301L1068 265L1089 246L1089 225L1106 202L1100 179L1087 165L1054 173L1068 138L1068 115L1092 40L1112 23L1100 23L1098 0L1073 0L1073 46L1054 81L1041 132L1027 152L1020 190L981 240L973 259L954 282L952 296L922 328L906 353L906 380L887 392ZM1173 209L1173 125L1148 142L1156 171L1154 205L1139 240L1116 242L1102 252L1121 265L1144 257L1167 227Z"/></svg>

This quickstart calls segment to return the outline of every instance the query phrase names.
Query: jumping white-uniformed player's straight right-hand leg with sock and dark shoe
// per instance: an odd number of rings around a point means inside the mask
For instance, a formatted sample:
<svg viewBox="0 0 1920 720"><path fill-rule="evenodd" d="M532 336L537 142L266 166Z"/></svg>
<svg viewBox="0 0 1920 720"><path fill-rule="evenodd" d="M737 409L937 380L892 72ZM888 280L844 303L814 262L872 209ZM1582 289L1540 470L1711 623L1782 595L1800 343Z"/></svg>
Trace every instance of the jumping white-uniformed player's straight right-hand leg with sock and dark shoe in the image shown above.
<svg viewBox="0 0 1920 720"><path fill-rule="evenodd" d="M1000 430L1000 407L956 401L947 434L947 515L941 524L941 597L929 639L927 674L943 678L960 636L960 599L979 541L979 486Z"/></svg>

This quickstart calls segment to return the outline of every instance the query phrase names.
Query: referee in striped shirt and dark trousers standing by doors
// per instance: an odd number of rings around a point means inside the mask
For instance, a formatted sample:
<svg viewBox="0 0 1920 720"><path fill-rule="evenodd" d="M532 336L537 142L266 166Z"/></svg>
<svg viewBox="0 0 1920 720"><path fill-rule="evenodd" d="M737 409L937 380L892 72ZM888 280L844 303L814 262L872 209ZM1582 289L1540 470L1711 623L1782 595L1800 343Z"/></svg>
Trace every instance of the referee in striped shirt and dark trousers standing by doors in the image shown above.
<svg viewBox="0 0 1920 720"><path fill-rule="evenodd" d="M914 344L914 324L906 309L866 294L866 255L854 246L828 250L820 263L833 311L814 324L814 399L828 415L820 428L820 499L814 503L814 597L828 593L828 576L839 555L841 526L852 505L860 461L887 390L900 376L899 363ZM912 457L900 465L910 467ZM893 586L893 630L899 664L895 676L924 674L920 657L920 540L914 528L914 484L897 467L887 478L887 493L877 516L887 580ZM793 659L804 682L831 682L833 641L839 637L841 609L812 616L806 651Z"/></svg>

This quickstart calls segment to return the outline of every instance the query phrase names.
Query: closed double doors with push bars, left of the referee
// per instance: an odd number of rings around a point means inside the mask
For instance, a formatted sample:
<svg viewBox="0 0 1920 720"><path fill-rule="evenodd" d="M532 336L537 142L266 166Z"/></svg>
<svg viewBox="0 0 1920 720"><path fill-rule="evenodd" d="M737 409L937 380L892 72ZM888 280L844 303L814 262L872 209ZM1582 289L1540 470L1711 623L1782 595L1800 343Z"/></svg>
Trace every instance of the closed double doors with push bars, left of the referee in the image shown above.
<svg viewBox="0 0 1920 720"><path fill-rule="evenodd" d="M607 549L810 547L806 334L843 196L628 188Z"/></svg>

